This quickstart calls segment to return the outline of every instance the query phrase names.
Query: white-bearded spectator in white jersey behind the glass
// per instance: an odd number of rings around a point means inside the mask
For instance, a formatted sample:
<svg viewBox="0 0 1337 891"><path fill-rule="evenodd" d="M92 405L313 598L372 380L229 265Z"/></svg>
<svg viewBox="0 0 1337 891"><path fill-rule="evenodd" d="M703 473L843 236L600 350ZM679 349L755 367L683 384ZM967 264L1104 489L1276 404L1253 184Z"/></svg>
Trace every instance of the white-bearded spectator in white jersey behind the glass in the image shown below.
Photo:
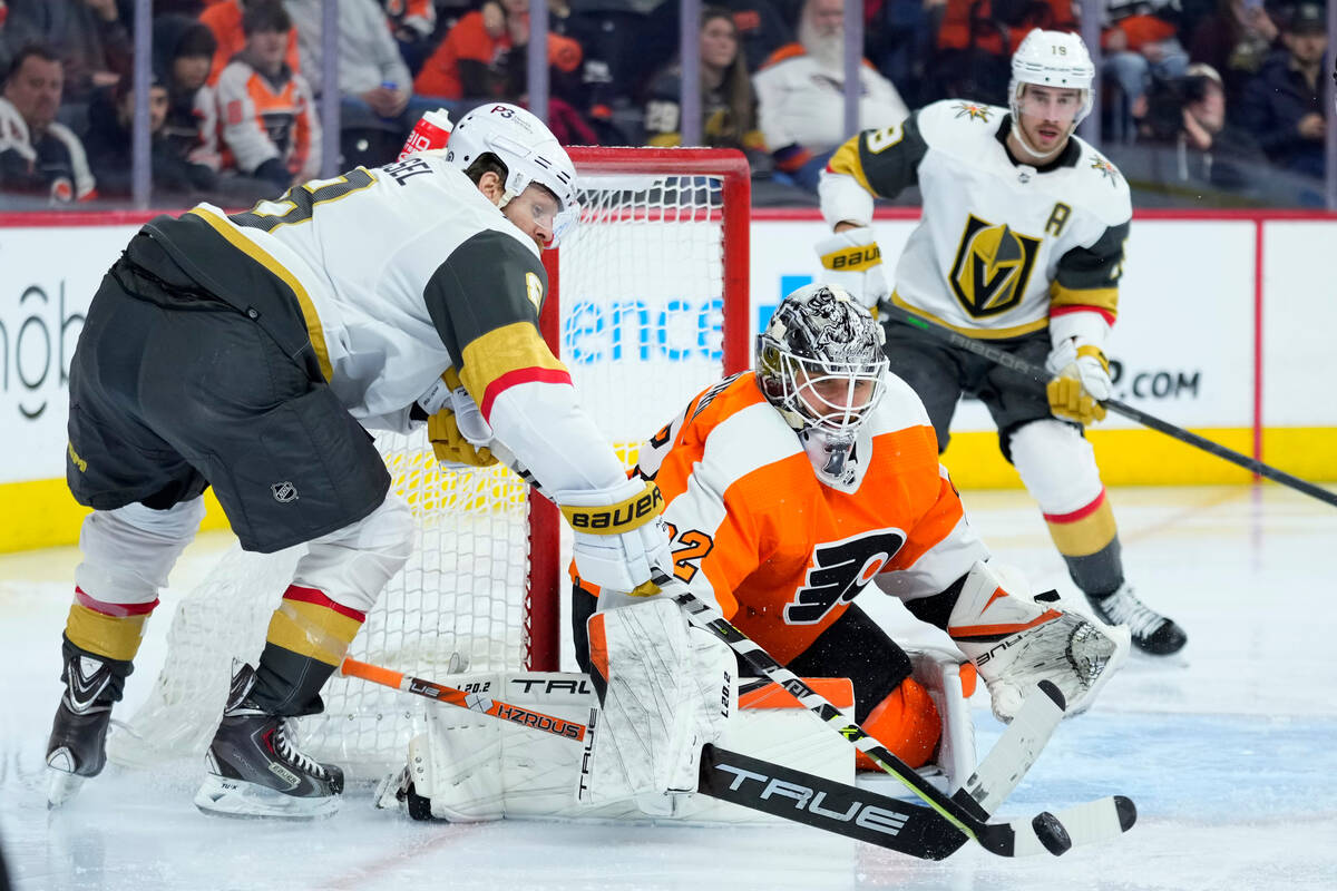
<svg viewBox="0 0 1337 891"><path fill-rule="evenodd" d="M775 167L814 190L845 132L844 0L806 0L798 43L781 47L753 79L761 131ZM892 81L860 68L858 127L889 127L909 115Z"/></svg>

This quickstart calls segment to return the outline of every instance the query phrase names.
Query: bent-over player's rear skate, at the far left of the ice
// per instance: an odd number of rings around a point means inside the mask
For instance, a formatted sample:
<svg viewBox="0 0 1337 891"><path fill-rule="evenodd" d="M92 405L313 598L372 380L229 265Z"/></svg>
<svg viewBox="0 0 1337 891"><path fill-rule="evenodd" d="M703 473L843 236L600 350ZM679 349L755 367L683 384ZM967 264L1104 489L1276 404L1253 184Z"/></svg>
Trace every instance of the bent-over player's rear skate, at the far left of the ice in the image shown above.
<svg viewBox="0 0 1337 891"><path fill-rule="evenodd" d="M107 727L119 680L112 667L94 656L75 653L66 663L66 692L56 707L47 743L51 769L47 806L67 801L83 781L107 764Z"/></svg>

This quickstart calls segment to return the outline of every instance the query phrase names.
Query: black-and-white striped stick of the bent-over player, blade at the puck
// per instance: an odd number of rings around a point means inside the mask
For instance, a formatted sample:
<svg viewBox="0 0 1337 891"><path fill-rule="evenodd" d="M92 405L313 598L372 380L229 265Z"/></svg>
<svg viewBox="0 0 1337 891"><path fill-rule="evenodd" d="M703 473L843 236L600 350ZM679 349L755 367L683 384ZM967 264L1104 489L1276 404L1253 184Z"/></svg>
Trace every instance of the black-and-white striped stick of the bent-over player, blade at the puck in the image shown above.
<svg viewBox="0 0 1337 891"><path fill-rule="evenodd" d="M686 586L677 578L659 577L655 578L655 584L664 589L683 608L687 620L693 625L710 632L729 644L743 661L783 687L801 705L836 728L852 745L864 752L864 755L868 755L886 773L904 783L920 800L947 818L953 826L979 842L984 850L1000 856L1017 856L1032 852L1032 839L1054 855L1060 855L1072 847L1071 835L1059 818L1048 811L1042 811L1031 820L1019 819L1008 823L988 823L988 811L980 807L965 789L960 789L952 796L940 792L905 764L905 761L896 757L881 743L869 736L862 727L832 705L826 697L777 663L770 653L734 628L718 609L686 590ZM1044 688L1042 687L1042 689ZM1062 696L1059 699L1062 700ZM997 796L985 792L985 799L995 800ZM1114 832L1115 835L1128 831L1136 819L1136 808L1132 801L1122 795L1107 796L1079 807L1083 810L1083 815L1088 816L1088 823L1099 824L1104 828L1118 827L1118 832ZM1087 834L1087 840L1099 838L1091 834Z"/></svg>

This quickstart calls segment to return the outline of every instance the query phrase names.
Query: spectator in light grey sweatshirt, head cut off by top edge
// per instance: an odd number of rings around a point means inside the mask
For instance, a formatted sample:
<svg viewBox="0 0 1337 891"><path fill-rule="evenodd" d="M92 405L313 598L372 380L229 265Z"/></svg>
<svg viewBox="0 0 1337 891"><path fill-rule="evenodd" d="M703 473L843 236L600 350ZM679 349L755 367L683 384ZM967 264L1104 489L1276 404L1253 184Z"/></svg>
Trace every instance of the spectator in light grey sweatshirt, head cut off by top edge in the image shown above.
<svg viewBox="0 0 1337 891"><path fill-rule="evenodd" d="M324 0L283 0L302 57L302 76L320 94ZM409 130L440 103L413 96L412 77L376 0L338 3L340 127L345 163L394 160ZM329 134L326 134L329 138ZM366 148L354 148L362 140Z"/></svg>

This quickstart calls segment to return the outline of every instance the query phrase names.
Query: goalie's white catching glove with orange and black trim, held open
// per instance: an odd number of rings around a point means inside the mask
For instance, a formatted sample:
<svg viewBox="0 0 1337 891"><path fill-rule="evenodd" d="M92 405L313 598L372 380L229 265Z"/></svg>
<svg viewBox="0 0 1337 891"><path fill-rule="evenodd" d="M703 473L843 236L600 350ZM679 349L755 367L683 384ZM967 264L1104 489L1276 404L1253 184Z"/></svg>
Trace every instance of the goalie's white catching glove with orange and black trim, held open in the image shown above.
<svg viewBox="0 0 1337 891"><path fill-rule="evenodd" d="M1086 711L1127 657L1128 629L1058 609L1055 592L1032 600L1025 581L1011 576L1004 581L993 566L976 561L952 606L947 633L975 663L1000 721L1011 721L1024 695L1042 680L1058 685L1067 717Z"/></svg>

